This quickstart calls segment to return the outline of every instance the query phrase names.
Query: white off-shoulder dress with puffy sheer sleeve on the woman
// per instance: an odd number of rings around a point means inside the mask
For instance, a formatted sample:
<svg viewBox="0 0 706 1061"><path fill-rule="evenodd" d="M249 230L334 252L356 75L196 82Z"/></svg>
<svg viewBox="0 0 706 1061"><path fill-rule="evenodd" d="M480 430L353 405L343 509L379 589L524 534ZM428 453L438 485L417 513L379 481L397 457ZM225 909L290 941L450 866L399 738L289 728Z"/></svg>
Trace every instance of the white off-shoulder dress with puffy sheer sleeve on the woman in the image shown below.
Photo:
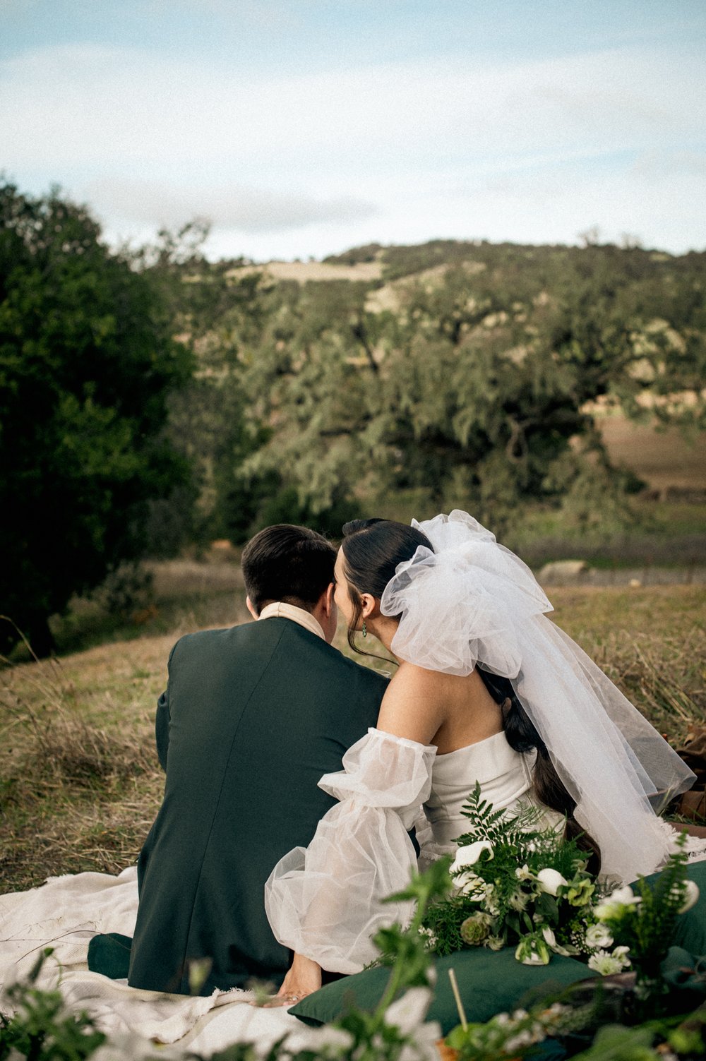
<svg viewBox="0 0 706 1061"><path fill-rule="evenodd" d="M416 869L409 830L421 807L432 848L452 850L468 832L461 810L477 781L498 810L532 801L535 754L515 751L502 732L438 755L431 745L369 729L344 755L343 770L320 781L340 802L309 847L290 851L265 885L276 938L331 972L360 972L377 954L371 937L412 915L412 903L382 900ZM547 824L564 821L549 808L545 816Z"/></svg>

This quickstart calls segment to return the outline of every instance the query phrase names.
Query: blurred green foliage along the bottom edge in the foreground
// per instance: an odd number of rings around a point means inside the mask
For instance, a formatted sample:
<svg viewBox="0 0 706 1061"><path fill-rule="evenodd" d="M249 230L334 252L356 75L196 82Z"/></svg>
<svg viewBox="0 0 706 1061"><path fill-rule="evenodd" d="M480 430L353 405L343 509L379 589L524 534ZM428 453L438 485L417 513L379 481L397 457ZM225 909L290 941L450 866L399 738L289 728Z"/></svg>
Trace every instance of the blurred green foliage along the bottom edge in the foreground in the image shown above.
<svg viewBox="0 0 706 1061"><path fill-rule="evenodd" d="M476 801L476 814L479 802ZM480 815L482 818L482 810ZM390 898L391 902L414 901L416 912L406 930L392 926L376 937L382 952L381 960L391 967L391 975L373 1012L349 1010L329 1029L322 1029L318 1042L314 1032L312 1043L302 1049L290 1049L283 1036L264 1055L257 1044L237 1042L218 1050L210 1061L256 1061L256 1058L264 1058L264 1061L399 1061L402 1057L411 1061L415 1057L428 1057L428 1036L420 1028L424 1003L417 1006L412 1017L413 1023L416 1019L415 1027L409 1027L409 1013L406 1028L396 1024L391 1007L406 990L424 988L430 982L430 958L419 929L429 907L442 903L448 893L451 882L447 867L448 859L440 860L426 873L415 874L402 892ZM676 877L666 873L664 880L670 894ZM660 894L662 900L668 899L664 892ZM0 1061L15 1058L84 1061L103 1043L116 1058L130 1058L131 1061L154 1058L155 1049L147 1041L143 1044L135 1038L124 1043L119 1039L108 1041L85 1013L69 1013L58 991L45 991L35 986L41 966L51 953L51 949L42 952L28 980L6 991L14 1015L0 1016ZM658 1061L668 1049L670 1056L684 1061L703 1057L706 1045L703 1007L687 1017L669 1015L632 1028L622 1025L597 1028L603 1013L600 986L591 993L590 985L573 985L558 997L535 1002L529 1010L500 1013L486 1023L454 1028L447 1043L459 1051L460 1061L501 1061L507 1057L531 1059L534 1056L559 1058L567 1056L564 1047L570 1056L585 1061ZM593 1033L596 1038L590 1047L576 1054L578 1045L583 1045ZM555 1041L554 1054L551 1053L552 1041ZM536 1054L540 1044L544 1049ZM197 1055L188 1056L199 1061Z"/></svg>

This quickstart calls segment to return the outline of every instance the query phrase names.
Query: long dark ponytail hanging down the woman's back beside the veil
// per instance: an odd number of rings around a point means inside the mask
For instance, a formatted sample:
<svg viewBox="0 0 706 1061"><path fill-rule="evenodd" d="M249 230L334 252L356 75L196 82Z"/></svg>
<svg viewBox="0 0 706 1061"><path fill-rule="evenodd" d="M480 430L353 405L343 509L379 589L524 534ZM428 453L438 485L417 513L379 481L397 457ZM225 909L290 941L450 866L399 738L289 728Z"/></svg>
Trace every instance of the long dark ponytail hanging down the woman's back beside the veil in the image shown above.
<svg viewBox="0 0 706 1061"><path fill-rule="evenodd" d="M598 873L601 868L600 849L593 838L582 830L573 817L576 801L567 792L564 782L556 772L547 745L520 703L512 682L509 678L489 674L480 666L478 673L493 699L500 705L505 740L510 747L519 752L536 749L537 758L532 778L535 796L545 806L566 816L565 837L575 839L580 848L589 852L588 868L592 873Z"/></svg>

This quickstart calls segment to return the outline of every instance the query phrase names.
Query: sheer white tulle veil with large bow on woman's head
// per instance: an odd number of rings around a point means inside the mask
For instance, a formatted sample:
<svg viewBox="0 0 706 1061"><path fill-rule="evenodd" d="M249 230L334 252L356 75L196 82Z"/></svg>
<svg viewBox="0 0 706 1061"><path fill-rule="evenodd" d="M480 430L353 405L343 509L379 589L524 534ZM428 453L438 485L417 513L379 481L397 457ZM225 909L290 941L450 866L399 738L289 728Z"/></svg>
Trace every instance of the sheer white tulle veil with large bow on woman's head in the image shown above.
<svg viewBox="0 0 706 1061"><path fill-rule="evenodd" d="M413 526L430 540L397 567L382 595L400 615L400 659L467 675L477 664L511 679L545 742L579 824L622 881L655 870L670 850L657 817L694 775L584 651L547 619L530 569L467 512ZM673 835L673 834L672 834Z"/></svg>

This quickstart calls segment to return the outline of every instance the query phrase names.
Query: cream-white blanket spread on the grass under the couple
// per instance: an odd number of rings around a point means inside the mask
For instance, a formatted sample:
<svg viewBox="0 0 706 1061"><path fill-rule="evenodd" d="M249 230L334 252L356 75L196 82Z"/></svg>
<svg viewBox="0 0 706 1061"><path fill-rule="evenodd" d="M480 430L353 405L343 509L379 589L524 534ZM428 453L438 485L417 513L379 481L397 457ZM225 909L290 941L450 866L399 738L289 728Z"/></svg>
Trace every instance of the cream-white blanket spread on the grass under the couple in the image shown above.
<svg viewBox="0 0 706 1061"><path fill-rule="evenodd" d="M288 1033L293 1047L313 1046L333 1029L308 1028L285 1008L247 1005L249 991L214 991L210 997L159 994L131 988L88 971L88 941L96 933L133 936L137 916L137 871L118 876L79 873L50 877L40 888L0 895L0 1009L8 1011L6 989L27 976L46 946L54 949L38 986L58 986L72 1010L86 1010L102 1031L132 1033L174 1043L208 1056L229 1043L251 1041L264 1053ZM145 1043L145 1046L148 1044Z"/></svg>

